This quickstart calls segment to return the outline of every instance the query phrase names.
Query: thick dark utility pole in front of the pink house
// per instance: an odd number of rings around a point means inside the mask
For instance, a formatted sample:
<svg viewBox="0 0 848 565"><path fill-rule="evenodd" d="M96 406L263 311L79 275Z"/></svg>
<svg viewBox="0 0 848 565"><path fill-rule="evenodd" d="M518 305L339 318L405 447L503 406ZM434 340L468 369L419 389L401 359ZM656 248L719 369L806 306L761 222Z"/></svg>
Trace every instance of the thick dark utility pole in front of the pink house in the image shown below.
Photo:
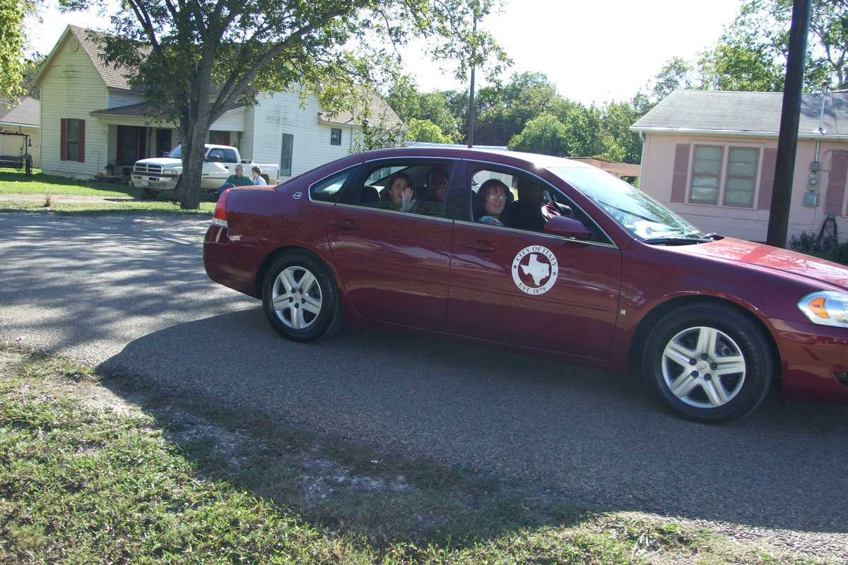
<svg viewBox="0 0 848 565"><path fill-rule="evenodd" d="M810 30L812 0L793 0L792 25L789 27L789 56L786 62L784 102L780 114L777 165L774 170L772 208L768 216L766 242L786 246L789 208L792 203L792 179L798 149L798 124L801 119L801 91L804 86L806 36Z"/></svg>

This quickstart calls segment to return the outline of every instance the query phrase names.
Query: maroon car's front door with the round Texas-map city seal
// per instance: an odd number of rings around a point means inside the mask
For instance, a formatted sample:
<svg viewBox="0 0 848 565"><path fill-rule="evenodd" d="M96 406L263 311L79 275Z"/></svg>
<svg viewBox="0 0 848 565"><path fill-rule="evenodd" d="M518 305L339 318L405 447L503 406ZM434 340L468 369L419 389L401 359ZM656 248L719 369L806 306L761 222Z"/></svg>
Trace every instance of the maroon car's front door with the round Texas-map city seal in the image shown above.
<svg viewBox="0 0 848 565"><path fill-rule="evenodd" d="M469 166L467 185L517 171ZM577 210L553 186L557 202ZM473 191L470 197L473 196ZM609 357L621 280L621 252L590 224L581 241L544 232L457 221L450 264L448 331L583 357Z"/></svg>

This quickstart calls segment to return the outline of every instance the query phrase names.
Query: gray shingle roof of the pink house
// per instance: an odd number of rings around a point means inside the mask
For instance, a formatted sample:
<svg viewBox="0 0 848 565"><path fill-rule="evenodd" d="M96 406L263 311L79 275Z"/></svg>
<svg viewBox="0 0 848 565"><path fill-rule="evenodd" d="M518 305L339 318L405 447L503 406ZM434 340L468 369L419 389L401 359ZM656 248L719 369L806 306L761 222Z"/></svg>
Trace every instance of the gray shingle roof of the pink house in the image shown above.
<svg viewBox="0 0 848 565"><path fill-rule="evenodd" d="M673 91L630 129L778 136L783 99L782 92ZM848 94L801 95L798 136L848 136Z"/></svg>

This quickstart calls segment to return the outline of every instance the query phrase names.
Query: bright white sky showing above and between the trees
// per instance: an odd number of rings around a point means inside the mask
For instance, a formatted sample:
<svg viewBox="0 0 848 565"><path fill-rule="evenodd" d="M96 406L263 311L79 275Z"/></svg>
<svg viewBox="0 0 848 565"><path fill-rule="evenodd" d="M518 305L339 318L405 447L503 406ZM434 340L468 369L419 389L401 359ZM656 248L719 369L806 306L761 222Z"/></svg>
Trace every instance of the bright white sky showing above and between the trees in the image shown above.
<svg viewBox="0 0 848 565"><path fill-rule="evenodd" d="M691 59L711 47L739 6L740 0L505 0L503 13L480 25L515 61L504 79L538 71L563 97L600 105L629 100L669 59ZM32 47L42 54L50 53L66 25L109 28L97 14L60 14L55 8L42 14L43 25L31 27ZM420 51L410 54L409 65L421 91L462 87L451 72L421 61Z"/></svg>

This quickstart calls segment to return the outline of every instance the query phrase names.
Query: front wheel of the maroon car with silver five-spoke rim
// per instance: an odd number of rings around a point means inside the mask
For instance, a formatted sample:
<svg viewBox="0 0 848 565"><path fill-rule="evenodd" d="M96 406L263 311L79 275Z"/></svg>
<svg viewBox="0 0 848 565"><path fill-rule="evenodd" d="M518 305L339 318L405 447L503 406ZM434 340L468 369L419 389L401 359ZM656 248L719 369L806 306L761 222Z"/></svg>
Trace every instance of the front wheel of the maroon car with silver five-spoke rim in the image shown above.
<svg viewBox="0 0 848 565"><path fill-rule="evenodd" d="M679 416L726 424L765 398L772 356L762 331L734 308L693 304L650 331L642 374L651 393Z"/></svg>

